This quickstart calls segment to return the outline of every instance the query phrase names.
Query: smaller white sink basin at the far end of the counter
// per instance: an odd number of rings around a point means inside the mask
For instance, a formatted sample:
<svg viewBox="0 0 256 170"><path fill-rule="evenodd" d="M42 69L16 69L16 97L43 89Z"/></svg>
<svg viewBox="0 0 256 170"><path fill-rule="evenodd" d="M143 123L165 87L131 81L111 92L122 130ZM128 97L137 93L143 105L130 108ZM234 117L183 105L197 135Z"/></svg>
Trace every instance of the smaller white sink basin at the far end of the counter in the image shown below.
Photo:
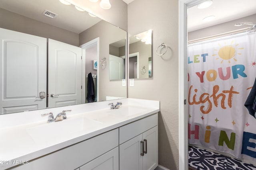
<svg viewBox="0 0 256 170"><path fill-rule="evenodd" d="M141 113L143 111L146 111L146 109L131 107L131 106L128 106L128 107L120 106L118 109L112 109L110 111L106 111L106 113L113 114L113 115L120 115L120 116L131 116L131 115Z"/></svg>

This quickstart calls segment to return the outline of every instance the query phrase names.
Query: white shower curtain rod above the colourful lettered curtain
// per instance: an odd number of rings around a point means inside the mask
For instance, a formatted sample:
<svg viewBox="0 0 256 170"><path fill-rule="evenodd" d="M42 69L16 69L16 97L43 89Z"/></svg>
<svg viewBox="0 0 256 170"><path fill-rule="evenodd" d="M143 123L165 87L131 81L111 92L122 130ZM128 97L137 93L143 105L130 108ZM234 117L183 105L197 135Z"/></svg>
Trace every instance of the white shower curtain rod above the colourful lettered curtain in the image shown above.
<svg viewBox="0 0 256 170"><path fill-rule="evenodd" d="M229 31L226 33L220 33L217 35L212 35L212 36L208 36L208 37L204 37L204 38L190 40L190 41L188 41L188 45L194 44L194 43L200 43L202 41L207 42L207 41L211 41L212 39L215 39L215 38L221 38L221 37L225 37L225 36L229 36L229 35L237 35L240 33L250 33L250 32L256 31L255 29L253 29L252 31L248 31L248 29L250 29L250 27L246 27L243 29L237 29L235 31Z"/></svg>

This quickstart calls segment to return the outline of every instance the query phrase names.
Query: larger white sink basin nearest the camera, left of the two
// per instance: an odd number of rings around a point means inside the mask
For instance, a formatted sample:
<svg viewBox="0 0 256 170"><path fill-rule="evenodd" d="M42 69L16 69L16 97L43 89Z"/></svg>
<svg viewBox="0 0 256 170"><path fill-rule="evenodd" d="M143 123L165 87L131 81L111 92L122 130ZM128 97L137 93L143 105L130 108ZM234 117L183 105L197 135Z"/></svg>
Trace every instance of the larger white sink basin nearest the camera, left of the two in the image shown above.
<svg viewBox="0 0 256 170"><path fill-rule="evenodd" d="M90 129L102 124L99 121L84 117L68 118L66 120L44 123L26 129L35 143L46 143L47 141L61 141L73 133Z"/></svg>

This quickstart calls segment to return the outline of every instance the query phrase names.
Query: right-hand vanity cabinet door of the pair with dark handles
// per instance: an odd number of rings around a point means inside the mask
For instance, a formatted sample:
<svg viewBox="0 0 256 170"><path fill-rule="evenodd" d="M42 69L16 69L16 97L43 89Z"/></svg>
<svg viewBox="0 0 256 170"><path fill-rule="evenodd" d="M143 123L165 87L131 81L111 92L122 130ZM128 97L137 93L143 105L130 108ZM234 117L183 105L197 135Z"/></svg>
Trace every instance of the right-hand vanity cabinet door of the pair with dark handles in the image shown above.
<svg viewBox="0 0 256 170"><path fill-rule="evenodd" d="M142 134L144 141L143 170L154 170L158 166L158 126Z"/></svg>

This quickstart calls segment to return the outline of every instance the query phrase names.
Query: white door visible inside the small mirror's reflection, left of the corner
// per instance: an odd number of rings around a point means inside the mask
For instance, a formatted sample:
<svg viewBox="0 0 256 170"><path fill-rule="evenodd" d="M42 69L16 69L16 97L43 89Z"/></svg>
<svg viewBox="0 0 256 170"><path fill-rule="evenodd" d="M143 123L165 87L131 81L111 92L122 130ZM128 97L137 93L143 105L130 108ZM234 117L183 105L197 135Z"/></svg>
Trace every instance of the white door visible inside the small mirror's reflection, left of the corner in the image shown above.
<svg viewBox="0 0 256 170"><path fill-rule="evenodd" d="M109 55L109 68L110 80L122 79L124 63L121 57Z"/></svg>

